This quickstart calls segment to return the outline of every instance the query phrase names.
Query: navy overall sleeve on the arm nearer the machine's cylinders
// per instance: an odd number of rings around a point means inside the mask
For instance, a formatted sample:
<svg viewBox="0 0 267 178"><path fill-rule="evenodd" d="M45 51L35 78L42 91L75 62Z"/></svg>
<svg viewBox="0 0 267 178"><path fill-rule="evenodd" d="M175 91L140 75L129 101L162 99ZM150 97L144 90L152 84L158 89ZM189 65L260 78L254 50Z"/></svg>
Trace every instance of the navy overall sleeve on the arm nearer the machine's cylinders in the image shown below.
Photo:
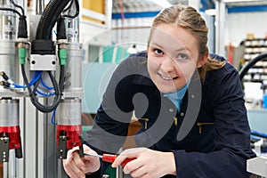
<svg viewBox="0 0 267 178"><path fill-rule="evenodd" d="M94 117L93 128L85 134L85 143L98 154L116 154L127 136L134 109L129 87L132 79L131 75L127 75L129 69L133 69L133 63L128 60L131 59L123 61L110 78L101 106ZM103 174L109 165L101 161L101 170L86 177Z"/></svg>

